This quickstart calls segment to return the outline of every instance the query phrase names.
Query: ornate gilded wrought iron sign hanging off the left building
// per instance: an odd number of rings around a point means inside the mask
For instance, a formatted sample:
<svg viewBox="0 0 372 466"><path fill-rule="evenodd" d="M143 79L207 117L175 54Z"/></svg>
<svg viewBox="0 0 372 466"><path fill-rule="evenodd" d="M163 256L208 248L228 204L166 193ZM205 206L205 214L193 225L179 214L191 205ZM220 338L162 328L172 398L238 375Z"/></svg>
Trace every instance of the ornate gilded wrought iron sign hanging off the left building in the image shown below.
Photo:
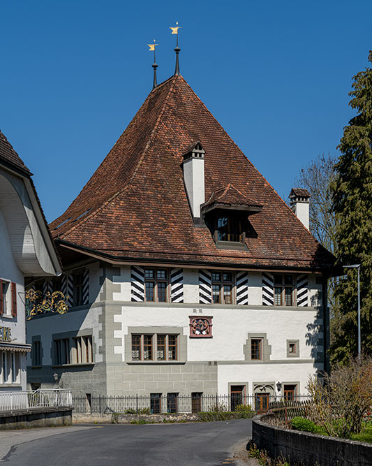
<svg viewBox="0 0 372 466"><path fill-rule="evenodd" d="M29 321L32 317L46 312L58 312L64 314L68 310L68 296L64 296L61 291L42 293L29 289L26 291L26 316Z"/></svg>

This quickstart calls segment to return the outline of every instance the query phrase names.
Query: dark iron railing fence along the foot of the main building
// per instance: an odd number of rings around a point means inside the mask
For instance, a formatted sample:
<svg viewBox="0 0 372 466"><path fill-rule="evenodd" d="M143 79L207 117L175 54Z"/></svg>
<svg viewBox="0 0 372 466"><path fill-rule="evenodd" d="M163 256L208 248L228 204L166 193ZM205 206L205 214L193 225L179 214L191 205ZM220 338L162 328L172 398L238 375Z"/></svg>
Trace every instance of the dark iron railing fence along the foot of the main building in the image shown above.
<svg viewBox="0 0 372 466"><path fill-rule="evenodd" d="M309 395L295 395L290 400L271 395L178 395L153 393L149 396L73 396L73 409L80 414L163 414L235 411L238 405L249 405L252 411L267 412L273 403L302 404L311 400Z"/></svg>

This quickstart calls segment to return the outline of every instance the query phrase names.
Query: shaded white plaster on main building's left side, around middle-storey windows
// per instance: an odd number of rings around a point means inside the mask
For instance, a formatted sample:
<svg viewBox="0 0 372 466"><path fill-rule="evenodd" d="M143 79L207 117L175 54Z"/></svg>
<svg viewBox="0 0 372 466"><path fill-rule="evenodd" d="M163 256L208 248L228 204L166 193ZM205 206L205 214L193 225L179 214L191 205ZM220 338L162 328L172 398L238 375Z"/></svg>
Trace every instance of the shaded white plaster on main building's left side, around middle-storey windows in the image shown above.
<svg viewBox="0 0 372 466"><path fill-rule="evenodd" d="M102 307L94 307L89 310L66 312L66 314L45 314L43 317L31 319L27 323L27 342L31 344L32 336L40 335L43 347L43 365L51 365L53 333L64 333L92 328L94 344L96 344L94 362L101 363L103 361L103 354L100 354L102 339L98 338L98 332L102 330L102 323L98 323L98 318L101 314ZM27 364L31 365L31 358L28 358Z"/></svg>

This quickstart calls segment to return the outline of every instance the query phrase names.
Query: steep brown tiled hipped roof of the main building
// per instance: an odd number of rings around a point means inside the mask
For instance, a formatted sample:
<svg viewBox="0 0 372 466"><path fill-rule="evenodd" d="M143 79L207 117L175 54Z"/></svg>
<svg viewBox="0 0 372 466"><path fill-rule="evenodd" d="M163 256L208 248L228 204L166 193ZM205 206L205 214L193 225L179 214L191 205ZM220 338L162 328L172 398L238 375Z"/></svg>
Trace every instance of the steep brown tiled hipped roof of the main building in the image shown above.
<svg viewBox="0 0 372 466"><path fill-rule="evenodd" d="M262 212L249 217L248 250L217 249L209 230L194 226L181 163L195 141L205 151L206 199L232 184L242 196L263 206ZM304 228L180 75L149 94L75 201L50 228L59 244L110 260L257 268L322 268L333 263L333 256Z"/></svg>

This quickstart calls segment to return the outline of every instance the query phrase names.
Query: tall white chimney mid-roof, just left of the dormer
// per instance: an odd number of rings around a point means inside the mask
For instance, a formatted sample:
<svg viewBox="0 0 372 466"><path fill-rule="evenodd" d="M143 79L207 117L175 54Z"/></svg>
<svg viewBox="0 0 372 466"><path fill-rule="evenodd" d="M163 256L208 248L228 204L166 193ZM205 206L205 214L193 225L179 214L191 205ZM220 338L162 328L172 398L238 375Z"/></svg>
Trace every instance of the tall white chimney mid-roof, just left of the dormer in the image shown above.
<svg viewBox="0 0 372 466"><path fill-rule="evenodd" d="M184 153L184 184L194 221L200 219L200 205L205 201L204 150L196 141Z"/></svg>

